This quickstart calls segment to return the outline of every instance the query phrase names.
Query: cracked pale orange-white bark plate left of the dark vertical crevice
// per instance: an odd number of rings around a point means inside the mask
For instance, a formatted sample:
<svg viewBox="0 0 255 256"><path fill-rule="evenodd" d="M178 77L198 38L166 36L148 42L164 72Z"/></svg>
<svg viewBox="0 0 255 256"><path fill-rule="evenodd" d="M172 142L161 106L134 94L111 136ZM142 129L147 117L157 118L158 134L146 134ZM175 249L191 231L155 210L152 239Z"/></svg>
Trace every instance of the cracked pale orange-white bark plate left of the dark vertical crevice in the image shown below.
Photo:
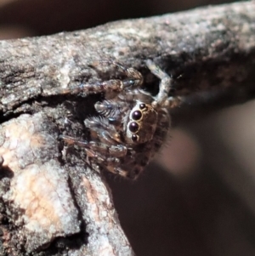
<svg viewBox="0 0 255 256"><path fill-rule="evenodd" d="M22 115L1 128L3 169L13 172L3 200L11 211L9 217L18 216L12 221L26 236L27 251L48 244L56 236L80 231L67 174L54 160L59 151L57 134L47 134L49 128L54 130L54 125L48 127L42 114Z"/></svg>

